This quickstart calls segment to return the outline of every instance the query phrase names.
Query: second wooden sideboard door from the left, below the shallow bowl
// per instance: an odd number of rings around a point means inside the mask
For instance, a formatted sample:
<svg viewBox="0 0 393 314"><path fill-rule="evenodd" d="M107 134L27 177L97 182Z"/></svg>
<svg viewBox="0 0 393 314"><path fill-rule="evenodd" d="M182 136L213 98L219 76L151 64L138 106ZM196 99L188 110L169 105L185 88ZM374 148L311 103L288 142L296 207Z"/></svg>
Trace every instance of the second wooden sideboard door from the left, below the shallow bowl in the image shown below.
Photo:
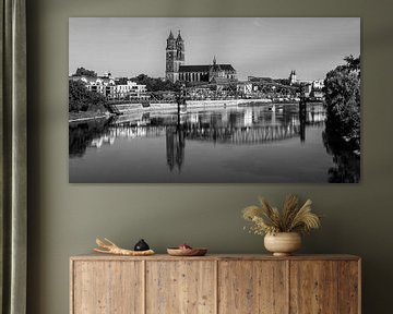
<svg viewBox="0 0 393 314"><path fill-rule="evenodd" d="M215 262L146 262L146 314L215 313Z"/></svg>

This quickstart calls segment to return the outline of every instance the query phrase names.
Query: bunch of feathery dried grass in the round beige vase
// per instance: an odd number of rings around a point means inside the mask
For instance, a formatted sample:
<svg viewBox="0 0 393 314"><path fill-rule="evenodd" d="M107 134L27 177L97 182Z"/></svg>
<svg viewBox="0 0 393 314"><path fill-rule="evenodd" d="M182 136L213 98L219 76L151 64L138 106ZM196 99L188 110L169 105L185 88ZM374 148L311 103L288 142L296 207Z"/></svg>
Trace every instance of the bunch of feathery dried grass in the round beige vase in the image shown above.
<svg viewBox="0 0 393 314"><path fill-rule="evenodd" d="M272 207L266 198L260 197L260 205L248 206L242 210L246 220L251 221L250 231L255 234L278 232L309 233L321 226L321 217L311 213L311 200L298 207L299 198L286 196L283 210Z"/></svg>

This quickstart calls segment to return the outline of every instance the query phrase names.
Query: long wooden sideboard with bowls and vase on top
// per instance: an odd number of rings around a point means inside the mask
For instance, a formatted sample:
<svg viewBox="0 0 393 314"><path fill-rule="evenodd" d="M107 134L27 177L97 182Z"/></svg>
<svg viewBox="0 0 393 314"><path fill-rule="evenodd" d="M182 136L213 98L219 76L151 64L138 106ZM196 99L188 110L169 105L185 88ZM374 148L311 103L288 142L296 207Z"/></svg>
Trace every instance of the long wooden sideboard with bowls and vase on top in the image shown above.
<svg viewBox="0 0 393 314"><path fill-rule="evenodd" d="M71 314L359 314L353 255L73 256Z"/></svg>

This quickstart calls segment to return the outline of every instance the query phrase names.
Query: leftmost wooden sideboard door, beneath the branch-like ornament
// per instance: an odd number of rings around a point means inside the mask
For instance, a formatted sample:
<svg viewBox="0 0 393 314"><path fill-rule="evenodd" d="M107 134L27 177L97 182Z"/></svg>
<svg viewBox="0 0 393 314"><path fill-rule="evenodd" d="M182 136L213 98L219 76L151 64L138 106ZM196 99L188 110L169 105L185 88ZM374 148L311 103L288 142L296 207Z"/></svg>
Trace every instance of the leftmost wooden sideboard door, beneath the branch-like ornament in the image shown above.
<svg viewBox="0 0 393 314"><path fill-rule="evenodd" d="M142 270L142 262L74 261L71 313L143 313Z"/></svg>

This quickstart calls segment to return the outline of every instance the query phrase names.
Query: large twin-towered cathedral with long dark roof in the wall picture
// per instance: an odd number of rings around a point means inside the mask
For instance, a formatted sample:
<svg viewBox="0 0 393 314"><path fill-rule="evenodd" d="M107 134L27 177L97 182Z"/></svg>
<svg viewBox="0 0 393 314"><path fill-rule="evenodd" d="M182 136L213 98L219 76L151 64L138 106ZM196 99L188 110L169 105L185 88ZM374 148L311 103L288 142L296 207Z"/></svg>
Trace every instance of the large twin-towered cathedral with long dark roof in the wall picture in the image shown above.
<svg viewBox="0 0 393 314"><path fill-rule="evenodd" d="M174 34L169 33L166 47L166 78L170 82L206 82L206 83L228 83L236 81L236 70L231 64L218 64L216 58L213 64L207 65L186 65L184 64L184 40L181 38L180 31L175 39Z"/></svg>

